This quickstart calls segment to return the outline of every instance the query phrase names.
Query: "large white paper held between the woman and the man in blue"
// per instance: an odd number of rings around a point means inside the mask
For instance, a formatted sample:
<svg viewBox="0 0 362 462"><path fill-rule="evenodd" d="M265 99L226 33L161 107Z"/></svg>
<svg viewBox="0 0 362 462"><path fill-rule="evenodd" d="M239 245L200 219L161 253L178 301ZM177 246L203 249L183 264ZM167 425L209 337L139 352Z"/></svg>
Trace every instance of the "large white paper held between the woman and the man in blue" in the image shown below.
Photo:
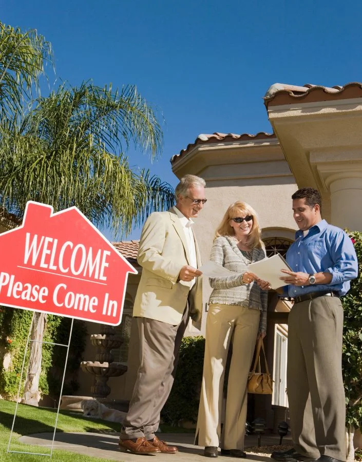
<svg viewBox="0 0 362 462"><path fill-rule="evenodd" d="M251 263L247 268L249 271L256 274L258 278L270 282L270 285L274 289L282 287L283 285L288 285L287 282L279 279L281 276L288 276L280 270L289 269L289 271L292 271L291 267L280 254Z"/></svg>

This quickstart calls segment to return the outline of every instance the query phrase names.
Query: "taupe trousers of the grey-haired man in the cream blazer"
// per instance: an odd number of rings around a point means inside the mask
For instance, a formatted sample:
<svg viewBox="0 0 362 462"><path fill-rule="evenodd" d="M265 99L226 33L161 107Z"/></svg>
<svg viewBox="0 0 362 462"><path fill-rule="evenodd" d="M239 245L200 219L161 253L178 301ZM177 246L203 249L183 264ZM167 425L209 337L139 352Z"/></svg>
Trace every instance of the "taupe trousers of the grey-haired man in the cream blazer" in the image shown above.
<svg viewBox="0 0 362 462"><path fill-rule="evenodd" d="M122 439L155 437L160 424L160 412L174 383L180 344L188 319L188 306L179 325L137 318L140 367L129 410L123 421Z"/></svg>

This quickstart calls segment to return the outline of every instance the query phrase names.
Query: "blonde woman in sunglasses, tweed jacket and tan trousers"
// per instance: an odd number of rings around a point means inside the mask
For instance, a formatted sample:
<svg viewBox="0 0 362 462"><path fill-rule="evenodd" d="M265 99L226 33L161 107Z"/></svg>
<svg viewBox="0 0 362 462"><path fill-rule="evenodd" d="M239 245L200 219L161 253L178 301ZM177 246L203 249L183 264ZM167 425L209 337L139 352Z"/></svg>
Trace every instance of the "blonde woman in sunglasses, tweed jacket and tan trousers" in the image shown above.
<svg viewBox="0 0 362 462"><path fill-rule="evenodd" d="M215 234L211 260L235 276L210 278L205 357L196 442L206 457L221 454L246 457L247 375L258 336L266 333L270 284L247 271L251 262L265 257L255 210L245 202L230 205ZM233 354L227 383L225 418L221 431L222 390L230 342Z"/></svg>

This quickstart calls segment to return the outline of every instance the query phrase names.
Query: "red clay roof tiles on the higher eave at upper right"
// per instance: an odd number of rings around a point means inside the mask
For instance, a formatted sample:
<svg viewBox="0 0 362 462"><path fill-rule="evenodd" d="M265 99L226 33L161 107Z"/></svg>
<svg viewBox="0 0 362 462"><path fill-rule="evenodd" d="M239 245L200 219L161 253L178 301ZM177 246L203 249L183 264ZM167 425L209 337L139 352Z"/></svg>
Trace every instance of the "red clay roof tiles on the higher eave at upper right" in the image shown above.
<svg viewBox="0 0 362 462"><path fill-rule="evenodd" d="M272 105L313 103L317 101L333 101L351 98L362 98L362 83L351 82L344 86L323 87L321 85L296 85L279 84L272 85L264 96L266 107Z"/></svg>

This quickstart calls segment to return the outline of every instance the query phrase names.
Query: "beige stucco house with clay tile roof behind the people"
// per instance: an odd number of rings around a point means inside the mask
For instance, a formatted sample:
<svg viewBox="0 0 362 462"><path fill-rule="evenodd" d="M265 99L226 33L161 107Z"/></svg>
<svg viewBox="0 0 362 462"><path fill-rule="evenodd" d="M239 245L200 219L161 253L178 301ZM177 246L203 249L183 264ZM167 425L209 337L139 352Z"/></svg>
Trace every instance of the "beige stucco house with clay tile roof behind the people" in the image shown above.
<svg viewBox="0 0 362 462"><path fill-rule="evenodd" d="M300 187L319 189L327 221L362 230L358 209L362 203L362 84L333 88L274 84L266 92L264 104L273 133L200 134L170 159L178 178L194 174L206 181L208 201L194 227L203 260L209 258L217 223L236 200L257 210L268 254L283 255L295 236L291 195ZM138 241L114 245L141 272L136 261ZM128 359L128 372L109 379L111 399L129 399L135 381L138 345L131 309L139 278L140 274L128 279L123 320L117 328L125 339L118 360ZM205 278L201 334L210 293ZM254 410L269 428L285 419L288 408L285 375L290 307L289 300L270 294L266 347L275 386L273 396L255 400ZM97 325L89 328L89 333L97 332ZM190 325L186 335L200 335L200 331ZM85 356L92 354L87 347ZM80 394L89 394L89 378L80 379Z"/></svg>

